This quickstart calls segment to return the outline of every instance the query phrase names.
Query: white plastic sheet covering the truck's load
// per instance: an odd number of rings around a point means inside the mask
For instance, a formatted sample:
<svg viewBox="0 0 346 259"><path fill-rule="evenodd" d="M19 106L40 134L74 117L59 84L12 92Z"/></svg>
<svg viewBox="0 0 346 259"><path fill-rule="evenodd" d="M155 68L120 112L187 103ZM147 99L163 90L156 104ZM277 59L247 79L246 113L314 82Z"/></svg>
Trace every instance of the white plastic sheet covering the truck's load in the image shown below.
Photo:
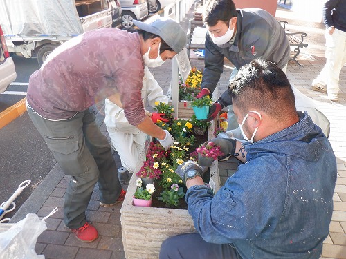
<svg viewBox="0 0 346 259"><path fill-rule="evenodd" d="M74 0L1 0L5 35L71 37L83 32Z"/></svg>

